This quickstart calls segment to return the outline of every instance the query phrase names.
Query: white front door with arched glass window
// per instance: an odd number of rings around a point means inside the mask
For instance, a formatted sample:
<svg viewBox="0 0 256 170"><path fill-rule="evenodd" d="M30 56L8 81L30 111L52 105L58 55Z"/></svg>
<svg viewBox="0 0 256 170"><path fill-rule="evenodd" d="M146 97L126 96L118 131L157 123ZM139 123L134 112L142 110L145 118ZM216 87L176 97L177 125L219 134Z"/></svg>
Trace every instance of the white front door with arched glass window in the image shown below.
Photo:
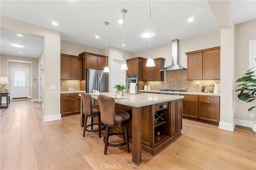
<svg viewBox="0 0 256 170"><path fill-rule="evenodd" d="M11 68L12 98L28 97L28 69Z"/></svg>

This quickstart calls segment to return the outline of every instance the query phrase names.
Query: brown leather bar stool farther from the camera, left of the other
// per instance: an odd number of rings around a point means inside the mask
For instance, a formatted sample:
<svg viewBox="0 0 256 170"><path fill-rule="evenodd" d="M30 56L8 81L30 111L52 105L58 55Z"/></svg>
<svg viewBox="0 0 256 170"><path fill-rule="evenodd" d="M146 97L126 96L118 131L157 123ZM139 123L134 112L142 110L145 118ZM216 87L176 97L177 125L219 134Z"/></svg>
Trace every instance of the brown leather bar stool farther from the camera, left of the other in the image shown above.
<svg viewBox="0 0 256 170"><path fill-rule="evenodd" d="M83 113L85 115L83 137L85 136L85 131L88 131L88 132L99 132L99 138L101 138L101 131L104 130L106 128L106 126L101 128L100 107L92 106L92 95L91 94L82 92L81 96L82 96L82 102L83 102ZM88 117L91 117L90 125L86 125ZM93 123L94 117L98 117L98 123ZM93 129L93 125L98 125L98 129ZM91 129L88 129L87 127L91 127Z"/></svg>

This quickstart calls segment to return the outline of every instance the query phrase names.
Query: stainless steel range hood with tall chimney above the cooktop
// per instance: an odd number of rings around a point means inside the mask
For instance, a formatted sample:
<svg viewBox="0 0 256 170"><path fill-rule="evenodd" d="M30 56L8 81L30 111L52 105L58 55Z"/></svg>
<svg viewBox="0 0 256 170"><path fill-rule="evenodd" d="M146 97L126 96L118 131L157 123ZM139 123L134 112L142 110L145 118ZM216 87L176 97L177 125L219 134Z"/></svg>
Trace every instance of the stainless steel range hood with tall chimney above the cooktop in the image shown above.
<svg viewBox="0 0 256 170"><path fill-rule="evenodd" d="M179 64L179 40L172 40L172 65L163 68L160 71L177 71L186 70L186 68L180 66Z"/></svg>

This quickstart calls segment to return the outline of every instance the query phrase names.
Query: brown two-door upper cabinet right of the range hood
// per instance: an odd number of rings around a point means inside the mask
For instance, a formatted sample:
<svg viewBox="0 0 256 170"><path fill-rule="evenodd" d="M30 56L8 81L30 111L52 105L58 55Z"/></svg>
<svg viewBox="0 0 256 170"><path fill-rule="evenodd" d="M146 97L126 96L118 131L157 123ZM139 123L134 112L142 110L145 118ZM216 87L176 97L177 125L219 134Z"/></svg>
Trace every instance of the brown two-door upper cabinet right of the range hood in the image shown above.
<svg viewBox="0 0 256 170"><path fill-rule="evenodd" d="M220 79L220 47L186 53L187 80Z"/></svg>

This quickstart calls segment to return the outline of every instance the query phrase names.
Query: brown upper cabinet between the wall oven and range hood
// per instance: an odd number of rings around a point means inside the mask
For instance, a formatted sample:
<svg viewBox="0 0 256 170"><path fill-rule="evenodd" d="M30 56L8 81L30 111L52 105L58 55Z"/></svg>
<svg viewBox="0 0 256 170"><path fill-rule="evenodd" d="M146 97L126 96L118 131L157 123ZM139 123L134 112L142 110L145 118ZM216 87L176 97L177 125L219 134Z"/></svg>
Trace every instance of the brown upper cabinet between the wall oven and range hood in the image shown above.
<svg viewBox="0 0 256 170"><path fill-rule="evenodd" d="M143 81L164 81L164 71L160 71L164 68L164 61L164 58L154 59L154 67L147 67L147 61L143 61Z"/></svg>

